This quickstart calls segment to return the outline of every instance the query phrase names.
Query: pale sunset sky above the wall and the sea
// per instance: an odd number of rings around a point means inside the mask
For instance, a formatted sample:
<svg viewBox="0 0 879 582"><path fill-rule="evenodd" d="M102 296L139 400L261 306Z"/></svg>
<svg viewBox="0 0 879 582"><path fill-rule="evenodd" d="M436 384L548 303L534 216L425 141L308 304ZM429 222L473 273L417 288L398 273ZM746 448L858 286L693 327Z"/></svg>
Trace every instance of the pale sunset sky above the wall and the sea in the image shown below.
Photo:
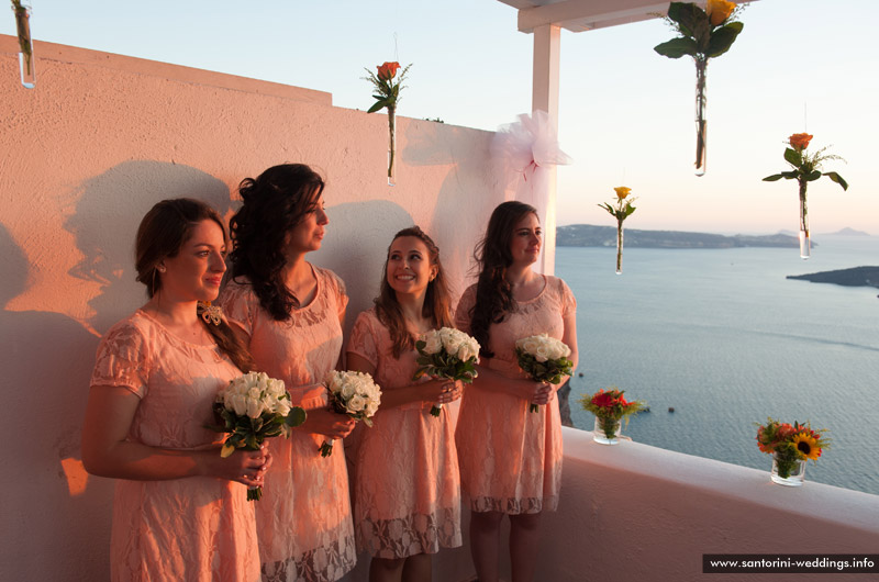
<svg viewBox="0 0 879 582"><path fill-rule="evenodd" d="M412 63L398 114L496 130L531 109L532 36L496 0L33 0L36 40L307 87L336 107L372 102L364 67ZM810 186L815 233L879 235L879 4L760 0L708 71L708 174L692 172L694 67L653 47L660 21L561 34L559 224L611 224L613 187L637 197L630 228L795 231L785 141L814 134L850 184ZM8 13L0 33L14 34ZM40 58L38 51L36 54ZM37 60L37 89L40 65ZM309 160L301 160L309 163ZM332 177L330 177L332 180Z"/></svg>

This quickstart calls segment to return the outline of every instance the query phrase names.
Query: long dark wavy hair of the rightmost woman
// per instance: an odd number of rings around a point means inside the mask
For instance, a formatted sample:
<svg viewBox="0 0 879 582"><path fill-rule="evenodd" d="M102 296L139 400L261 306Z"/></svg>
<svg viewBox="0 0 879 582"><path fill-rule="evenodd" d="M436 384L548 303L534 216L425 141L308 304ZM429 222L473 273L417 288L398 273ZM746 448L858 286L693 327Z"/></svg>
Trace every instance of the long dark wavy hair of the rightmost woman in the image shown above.
<svg viewBox="0 0 879 582"><path fill-rule="evenodd" d="M474 259L479 270L476 282L476 303L470 312L470 335L472 335L486 358L493 358L489 349L492 323L501 323L515 307L513 289L507 281L507 269L513 264L510 253L515 225L527 214L537 215L537 210L515 200L499 204L488 221L486 236L476 245Z"/></svg>

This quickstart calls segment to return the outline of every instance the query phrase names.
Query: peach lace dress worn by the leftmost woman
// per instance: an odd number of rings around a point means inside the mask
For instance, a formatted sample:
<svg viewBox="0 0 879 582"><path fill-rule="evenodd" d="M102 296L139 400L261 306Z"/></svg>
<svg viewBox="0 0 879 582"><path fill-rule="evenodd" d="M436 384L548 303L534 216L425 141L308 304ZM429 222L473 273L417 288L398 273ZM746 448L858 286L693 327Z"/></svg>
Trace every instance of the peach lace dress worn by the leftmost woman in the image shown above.
<svg viewBox="0 0 879 582"><path fill-rule="evenodd" d="M187 450L223 440L204 425L213 422L218 391L240 374L215 346L189 344L138 310L101 340L91 390L121 387L141 399L129 440ZM118 480L111 579L259 580L254 504L246 491L210 477Z"/></svg>

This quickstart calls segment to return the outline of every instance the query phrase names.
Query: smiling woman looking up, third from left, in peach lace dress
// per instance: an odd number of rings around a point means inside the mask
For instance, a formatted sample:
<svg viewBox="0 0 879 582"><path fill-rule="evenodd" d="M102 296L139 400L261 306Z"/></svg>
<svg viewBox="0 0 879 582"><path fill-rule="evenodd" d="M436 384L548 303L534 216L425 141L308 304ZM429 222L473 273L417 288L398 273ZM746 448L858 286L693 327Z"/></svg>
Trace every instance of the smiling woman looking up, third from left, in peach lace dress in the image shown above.
<svg viewBox="0 0 879 582"><path fill-rule="evenodd" d="M449 380L413 381L415 338L452 325L439 249L418 226L388 248L376 306L360 313L347 347L352 370L381 387L374 426L360 434L355 522L372 555L370 582L430 582L431 555L461 545L460 486L454 423L435 403L461 394Z"/></svg>

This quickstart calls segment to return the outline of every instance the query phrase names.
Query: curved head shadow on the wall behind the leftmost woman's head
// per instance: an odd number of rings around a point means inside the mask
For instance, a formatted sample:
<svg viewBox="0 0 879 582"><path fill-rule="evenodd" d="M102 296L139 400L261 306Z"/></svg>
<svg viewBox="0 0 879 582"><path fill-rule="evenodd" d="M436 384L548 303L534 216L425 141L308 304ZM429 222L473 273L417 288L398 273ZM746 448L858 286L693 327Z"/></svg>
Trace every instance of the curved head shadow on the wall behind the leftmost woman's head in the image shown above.
<svg viewBox="0 0 879 582"><path fill-rule="evenodd" d="M229 188L213 176L164 161L126 161L92 178L75 192L74 214L65 228L76 236L84 258L74 277L100 283L89 301L90 323L103 334L146 301L135 281L134 239L137 225L153 205L168 198L194 198L226 216L232 206Z"/></svg>

